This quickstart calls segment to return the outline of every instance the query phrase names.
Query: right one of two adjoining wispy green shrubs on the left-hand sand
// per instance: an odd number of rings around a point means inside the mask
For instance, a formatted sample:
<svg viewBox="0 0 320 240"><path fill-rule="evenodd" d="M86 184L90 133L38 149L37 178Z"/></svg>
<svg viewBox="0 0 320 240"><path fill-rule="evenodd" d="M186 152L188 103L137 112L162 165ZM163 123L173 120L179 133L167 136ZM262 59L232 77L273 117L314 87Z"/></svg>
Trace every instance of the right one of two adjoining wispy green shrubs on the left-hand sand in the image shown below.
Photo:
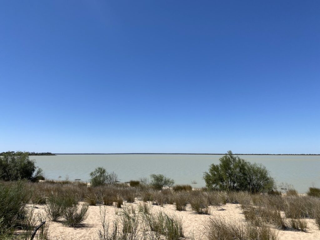
<svg viewBox="0 0 320 240"><path fill-rule="evenodd" d="M67 207L64 210L63 218L68 227L77 227L88 217L88 205L83 204L81 207L78 204Z"/></svg>

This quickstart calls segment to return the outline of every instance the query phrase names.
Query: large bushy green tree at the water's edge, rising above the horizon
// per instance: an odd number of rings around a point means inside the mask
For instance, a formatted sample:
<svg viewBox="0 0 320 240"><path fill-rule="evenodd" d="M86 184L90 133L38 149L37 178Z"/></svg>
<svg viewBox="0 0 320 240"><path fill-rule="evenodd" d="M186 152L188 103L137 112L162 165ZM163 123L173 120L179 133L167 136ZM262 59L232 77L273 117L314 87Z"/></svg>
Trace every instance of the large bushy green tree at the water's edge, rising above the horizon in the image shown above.
<svg viewBox="0 0 320 240"><path fill-rule="evenodd" d="M220 164L211 164L204 173L206 186L224 191L268 192L274 188L274 180L261 164L252 164L235 156L231 151L221 157Z"/></svg>

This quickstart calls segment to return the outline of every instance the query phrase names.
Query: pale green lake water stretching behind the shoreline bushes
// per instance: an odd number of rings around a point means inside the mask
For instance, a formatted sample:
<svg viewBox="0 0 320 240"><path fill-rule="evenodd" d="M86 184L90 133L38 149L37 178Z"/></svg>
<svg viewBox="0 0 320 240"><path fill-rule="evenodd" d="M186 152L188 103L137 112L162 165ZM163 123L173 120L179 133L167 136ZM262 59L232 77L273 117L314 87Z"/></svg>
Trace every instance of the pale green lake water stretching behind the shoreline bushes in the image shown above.
<svg viewBox="0 0 320 240"><path fill-rule="evenodd" d="M57 155L31 156L36 165L44 170L47 179L88 181L89 173L102 166L114 171L124 181L149 177L152 173L162 173L173 178L178 184L194 187L205 185L203 172L209 165L219 163L221 155ZM276 182L287 182L300 193L305 193L312 185L320 187L320 156L270 156L242 155L250 162L265 165ZM58 178L61 175L61 178ZM195 180L197 184L191 184Z"/></svg>

